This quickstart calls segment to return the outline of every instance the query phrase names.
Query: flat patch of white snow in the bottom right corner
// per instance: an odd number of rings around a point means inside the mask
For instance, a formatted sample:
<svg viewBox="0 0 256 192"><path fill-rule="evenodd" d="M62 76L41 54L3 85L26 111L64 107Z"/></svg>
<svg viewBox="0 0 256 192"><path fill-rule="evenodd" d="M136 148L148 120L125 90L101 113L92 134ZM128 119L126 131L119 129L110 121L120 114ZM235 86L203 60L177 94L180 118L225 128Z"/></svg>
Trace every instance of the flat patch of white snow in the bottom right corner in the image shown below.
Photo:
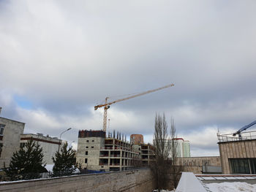
<svg viewBox="0 0 256 192"><path fill-rule="evenodd" d="M245 182L223 182L223 183L204 183L204 186L212 192L255 192L256 184L252 185Z"/></svg>

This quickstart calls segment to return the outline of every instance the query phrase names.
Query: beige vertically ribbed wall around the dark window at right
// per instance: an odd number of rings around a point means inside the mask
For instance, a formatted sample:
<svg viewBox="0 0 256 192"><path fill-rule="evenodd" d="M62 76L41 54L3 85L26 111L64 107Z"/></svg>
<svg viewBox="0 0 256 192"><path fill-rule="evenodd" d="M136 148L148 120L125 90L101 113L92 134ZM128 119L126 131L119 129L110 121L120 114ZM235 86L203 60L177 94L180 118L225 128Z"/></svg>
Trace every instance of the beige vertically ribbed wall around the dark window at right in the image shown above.
<svg viewBox="0 0 256 192"><path fill-rule="evenodd" d="M229 158L256 158L256 140L219 142L223 174L230 174Z"/></svg>

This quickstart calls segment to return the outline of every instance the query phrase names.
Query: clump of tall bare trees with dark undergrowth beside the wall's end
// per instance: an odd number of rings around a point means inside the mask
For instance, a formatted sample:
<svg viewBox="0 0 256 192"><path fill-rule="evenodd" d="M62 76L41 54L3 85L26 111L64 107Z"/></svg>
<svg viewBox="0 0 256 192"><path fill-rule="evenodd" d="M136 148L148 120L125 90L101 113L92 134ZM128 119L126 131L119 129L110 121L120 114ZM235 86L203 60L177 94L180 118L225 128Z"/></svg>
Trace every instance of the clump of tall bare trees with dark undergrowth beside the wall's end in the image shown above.
<svg viewBox="0 0 256 192"><path fill-rule="evenodd" d="M156 114L153 141L155 161L152 161L151 169L153 170L158 189L176 187L177 172L180 171L176 167L177 142L175 138L176 128L174 120L170 120L169 132L165 114Z"/></svg>

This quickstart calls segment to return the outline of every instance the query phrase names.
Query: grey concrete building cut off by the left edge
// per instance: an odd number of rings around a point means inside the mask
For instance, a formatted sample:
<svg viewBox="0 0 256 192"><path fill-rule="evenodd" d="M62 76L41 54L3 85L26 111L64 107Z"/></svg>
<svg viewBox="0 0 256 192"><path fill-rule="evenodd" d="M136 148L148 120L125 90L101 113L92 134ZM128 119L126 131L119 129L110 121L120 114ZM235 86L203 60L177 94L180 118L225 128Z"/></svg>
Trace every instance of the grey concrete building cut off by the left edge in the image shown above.
<svg viewBox="0 0 256 192"><path fill-rule="evenodd" d="M20 148L25 123L0 117L0 168L9 166L12 154Z"/></svg>

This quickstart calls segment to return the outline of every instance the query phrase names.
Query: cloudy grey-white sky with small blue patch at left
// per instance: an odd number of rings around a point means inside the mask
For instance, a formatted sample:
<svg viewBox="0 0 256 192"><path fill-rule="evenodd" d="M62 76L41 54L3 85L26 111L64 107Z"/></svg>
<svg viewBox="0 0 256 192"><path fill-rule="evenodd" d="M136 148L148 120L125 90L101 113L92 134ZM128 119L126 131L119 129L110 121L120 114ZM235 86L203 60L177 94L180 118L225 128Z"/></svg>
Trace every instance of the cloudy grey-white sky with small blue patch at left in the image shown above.
<svg viewBox="0 0 256 192"><path fill-rule="evenodd" d="M256 1L0 1L1 117L77 147L102 129L152 142L173 118L192 156L219 155L217 131L255 120ZM256 126L248 131L256 130Z"/></svg>

